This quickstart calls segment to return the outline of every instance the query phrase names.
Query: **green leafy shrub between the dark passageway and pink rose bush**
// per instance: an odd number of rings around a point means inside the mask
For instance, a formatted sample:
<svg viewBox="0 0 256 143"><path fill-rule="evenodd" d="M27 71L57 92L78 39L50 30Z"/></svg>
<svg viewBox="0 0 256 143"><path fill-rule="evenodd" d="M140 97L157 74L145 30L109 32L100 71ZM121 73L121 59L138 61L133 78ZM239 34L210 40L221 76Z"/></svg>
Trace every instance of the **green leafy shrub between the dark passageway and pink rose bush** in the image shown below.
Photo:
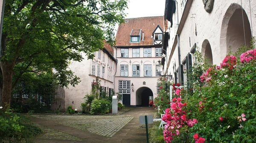
<svg viewBox="0 0 256 143"><path fill-rule="evenodd" d="M168 95L168 93L170 92L169 87L171 86L171 83L163 77L160 77L158 79L158 82L160 82L160 92L158 93L158 96L154 99L153 107L157 109L157 107L160 106L161 110L165 110L170 107L170 96Z"/></svg>

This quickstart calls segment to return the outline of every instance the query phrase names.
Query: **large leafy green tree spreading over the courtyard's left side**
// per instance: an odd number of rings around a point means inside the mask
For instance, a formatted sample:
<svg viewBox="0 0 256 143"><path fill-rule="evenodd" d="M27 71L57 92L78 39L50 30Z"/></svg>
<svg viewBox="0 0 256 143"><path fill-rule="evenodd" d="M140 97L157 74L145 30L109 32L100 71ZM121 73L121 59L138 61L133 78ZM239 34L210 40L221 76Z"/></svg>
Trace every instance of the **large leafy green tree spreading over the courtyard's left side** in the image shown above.
<svg viewBox="0 0 256 143"><path fill-rule="evenodd" d="M89 59L113 44L114 26L125 16L127 0L6 0L0 49L2 103L25 72L48 72L61 86L79 83L69 61ZM18 70L17 70L18 69Z"/></svg>

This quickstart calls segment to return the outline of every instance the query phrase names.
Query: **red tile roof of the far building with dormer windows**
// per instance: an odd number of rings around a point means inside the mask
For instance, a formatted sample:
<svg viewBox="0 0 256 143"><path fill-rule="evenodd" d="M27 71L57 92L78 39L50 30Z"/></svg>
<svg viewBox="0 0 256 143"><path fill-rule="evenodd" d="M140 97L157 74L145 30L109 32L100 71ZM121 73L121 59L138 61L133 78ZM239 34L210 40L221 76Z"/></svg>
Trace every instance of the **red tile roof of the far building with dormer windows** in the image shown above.
<svg viewBox="0 0 256 143"><path fill-rule="evenodd" d="M151 38L154 29L159 25L163 31L167 29L168 21L164 21L164 16L156 17L139 17L124 19L125 23L121 23L116 32L115 46L145 46L153 45ZM130 34L133 34L132 29L142 29L140 43L130 43ZM142 41L142 33L144 33L144 41Z"/></svg>

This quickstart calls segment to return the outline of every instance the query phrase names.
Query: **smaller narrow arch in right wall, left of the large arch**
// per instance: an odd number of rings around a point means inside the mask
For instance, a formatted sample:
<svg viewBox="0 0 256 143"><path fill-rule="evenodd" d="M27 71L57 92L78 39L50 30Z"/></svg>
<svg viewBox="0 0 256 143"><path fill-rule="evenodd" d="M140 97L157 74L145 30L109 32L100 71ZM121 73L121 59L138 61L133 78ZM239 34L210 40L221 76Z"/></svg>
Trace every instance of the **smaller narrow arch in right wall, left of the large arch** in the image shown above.
<svg viewBox="0 0 256 143"><path fill-rule="evenodd" d="M208 59L208 63L210 65L213 65L212 48L207 39L205 39L204 42L202 43L201 53L205 59Z"/></svg>

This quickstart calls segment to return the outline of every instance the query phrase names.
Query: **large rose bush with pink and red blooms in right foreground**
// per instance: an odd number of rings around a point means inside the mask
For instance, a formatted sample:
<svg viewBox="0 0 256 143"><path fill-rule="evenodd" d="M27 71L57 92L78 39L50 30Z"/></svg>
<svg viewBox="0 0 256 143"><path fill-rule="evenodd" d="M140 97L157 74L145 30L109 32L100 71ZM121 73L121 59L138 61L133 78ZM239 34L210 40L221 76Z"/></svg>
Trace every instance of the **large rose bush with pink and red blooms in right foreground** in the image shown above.
<svg viewBox="0 0 256 143"><path fill-rule="evenodd" d="M176 89L171 106L166 104L167 143L256 142L256 49L243 50L227 55L220 66L196 54L200 62L188 78L192 87Z"/></svg>

